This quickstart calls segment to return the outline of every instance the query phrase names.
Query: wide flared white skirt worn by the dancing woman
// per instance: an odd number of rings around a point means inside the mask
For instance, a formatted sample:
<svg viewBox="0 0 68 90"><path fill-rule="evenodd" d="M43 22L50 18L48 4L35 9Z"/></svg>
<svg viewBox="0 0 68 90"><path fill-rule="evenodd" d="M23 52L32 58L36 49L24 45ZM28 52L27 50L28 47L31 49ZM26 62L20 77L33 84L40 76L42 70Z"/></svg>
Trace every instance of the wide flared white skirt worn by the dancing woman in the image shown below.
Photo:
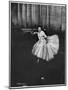
<svg viewBox="0 0 68 90"><path fill-rule="evenodd" d="M43 60L49 61L59 50L59 38L57 35L48 36L47 40L38 40L32 49L32 54Z"/></svg>

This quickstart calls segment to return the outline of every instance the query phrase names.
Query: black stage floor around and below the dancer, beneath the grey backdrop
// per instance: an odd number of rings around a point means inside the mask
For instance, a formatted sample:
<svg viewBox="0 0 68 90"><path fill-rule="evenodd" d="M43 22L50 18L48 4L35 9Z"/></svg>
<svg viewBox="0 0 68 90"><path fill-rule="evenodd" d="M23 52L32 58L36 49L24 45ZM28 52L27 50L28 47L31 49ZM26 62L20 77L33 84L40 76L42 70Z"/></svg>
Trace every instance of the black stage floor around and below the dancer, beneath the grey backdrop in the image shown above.
<svg viewBox="0 0 68 90"><path fill-rule="evenodd" d="M38 40L37 36L12 30L11 86L65 84L65 40L59 39L60 48L55 58L49 62L40 60L36 63L32 47Z"/></svg>

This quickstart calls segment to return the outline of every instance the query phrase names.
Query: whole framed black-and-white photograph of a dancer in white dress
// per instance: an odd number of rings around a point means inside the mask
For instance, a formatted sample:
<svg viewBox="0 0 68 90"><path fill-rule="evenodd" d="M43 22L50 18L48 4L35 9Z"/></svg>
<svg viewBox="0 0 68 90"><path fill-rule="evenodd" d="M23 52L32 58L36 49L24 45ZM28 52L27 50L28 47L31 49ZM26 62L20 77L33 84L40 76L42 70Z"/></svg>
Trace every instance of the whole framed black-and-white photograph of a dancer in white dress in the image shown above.
<svg viewBox="0 0 68 90"><path fill-rule="evenodd" d="M66 85L66 4L9 1L10 88Z"/></svg>

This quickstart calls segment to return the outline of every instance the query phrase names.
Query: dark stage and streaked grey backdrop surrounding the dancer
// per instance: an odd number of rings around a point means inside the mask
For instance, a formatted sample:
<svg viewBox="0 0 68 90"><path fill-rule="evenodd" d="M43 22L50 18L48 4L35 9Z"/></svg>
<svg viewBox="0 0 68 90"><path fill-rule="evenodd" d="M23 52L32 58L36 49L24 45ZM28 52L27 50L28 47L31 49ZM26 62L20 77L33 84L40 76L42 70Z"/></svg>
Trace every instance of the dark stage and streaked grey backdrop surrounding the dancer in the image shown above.
<svg viewBox="0 0 68 90"><path fill-rule="evenodd" d="M11 3L10 19L11 86L65 84L66 6ZM38 38L30 32L38 26L48 36L57 34L60 46L53 60L37 64L32 47Z"/></svg>

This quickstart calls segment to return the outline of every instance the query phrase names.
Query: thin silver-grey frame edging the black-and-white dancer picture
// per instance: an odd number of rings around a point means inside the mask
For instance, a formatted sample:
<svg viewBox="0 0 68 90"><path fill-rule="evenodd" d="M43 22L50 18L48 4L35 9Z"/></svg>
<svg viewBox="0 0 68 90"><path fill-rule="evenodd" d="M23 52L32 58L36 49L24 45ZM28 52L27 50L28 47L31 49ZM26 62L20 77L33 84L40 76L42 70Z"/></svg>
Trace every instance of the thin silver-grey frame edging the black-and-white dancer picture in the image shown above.
<svg viewBox="0 0 68 90"><path fill-rule="evenodd" d="M67 5L66 4L58 4L58 3L41 3L41 2L27 2L27 1L9 1L9 88L10 89L20 89L20 88L38 88L38 87L56 87L56 86L66 86L66 56L65 56L65 84L55 84L55 85L37 85L37 86L19 86L19 87L11 87L11 3L24 3L24 4L39 4L39 5L54 5L54 6L65 6L66 7L66 18L67 18ZM66 22L67 24L67 22ZM67 30L67 25L66 25ZM66 39L66 31L65 31L65 39ZM65 42L66 44L66 42ZM66 55L66 47L65 47L65 55Z"/></svg>

